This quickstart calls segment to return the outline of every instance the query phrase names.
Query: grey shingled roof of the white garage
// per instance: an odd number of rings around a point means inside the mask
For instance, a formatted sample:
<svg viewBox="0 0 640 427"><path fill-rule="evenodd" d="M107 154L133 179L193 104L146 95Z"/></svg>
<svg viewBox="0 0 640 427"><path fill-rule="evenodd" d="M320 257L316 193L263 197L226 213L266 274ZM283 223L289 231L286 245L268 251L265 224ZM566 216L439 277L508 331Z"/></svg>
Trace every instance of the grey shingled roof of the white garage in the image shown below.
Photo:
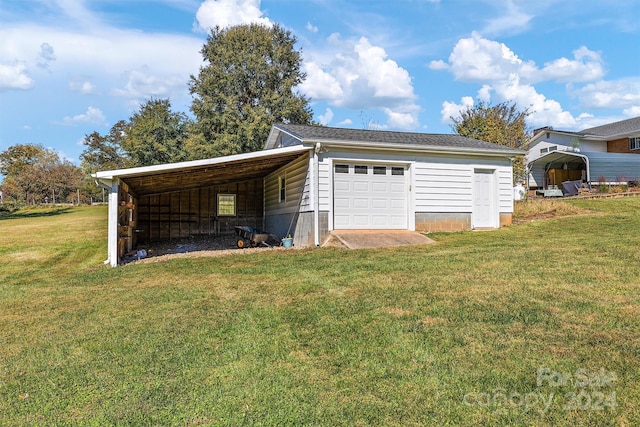
<svg viewBox="0 0 640 427"><path fill-rule="evenodd" d="M355 142L370 144L418 145L425 148L455 148L471 150L501 151L505 154L522 154L521 150L492 144L473 138L454 134L435 134L417 132L392 132L381 130L360 130L332 128L325 126L276 124L275 127L285 131L303 142Z"/></svg>

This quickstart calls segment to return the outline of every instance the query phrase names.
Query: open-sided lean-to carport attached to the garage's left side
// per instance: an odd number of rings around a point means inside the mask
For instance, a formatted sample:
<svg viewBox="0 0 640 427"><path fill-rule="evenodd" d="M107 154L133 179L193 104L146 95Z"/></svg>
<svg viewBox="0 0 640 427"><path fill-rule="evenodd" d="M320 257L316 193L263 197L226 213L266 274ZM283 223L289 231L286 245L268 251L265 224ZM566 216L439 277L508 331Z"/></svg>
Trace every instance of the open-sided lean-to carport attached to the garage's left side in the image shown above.
<svg viewBox="0 0 640 427"><path fill-rule="evenodd" d="M264 227L264 178L309 151L274 148L94 174L109 190L105 263L118 265L139 242L233 232L239 222Z"/></svg>

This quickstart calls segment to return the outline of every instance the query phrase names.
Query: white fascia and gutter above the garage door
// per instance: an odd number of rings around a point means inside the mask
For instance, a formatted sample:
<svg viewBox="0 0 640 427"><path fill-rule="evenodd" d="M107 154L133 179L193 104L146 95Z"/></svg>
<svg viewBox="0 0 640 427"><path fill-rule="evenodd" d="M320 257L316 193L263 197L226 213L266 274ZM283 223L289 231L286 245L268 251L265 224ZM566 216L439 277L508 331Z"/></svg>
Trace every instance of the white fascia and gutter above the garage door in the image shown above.
<svg viewBox="0 0 640 427"><path fill-rule="evenodd" d="M471 154L475 156L491 155L491 156L524 156L527 154L524 150L510 149L509 151L503 150L491 150L486 148L459 148L459 147L438 147L432 145L419 145L419 144L391 144L381 142L368 142L368 141L342 141L336 139L308 139L303 141L304 144L315 144L319 142L325 147L333 148L360 148L366 150L379 150L379 151L410 151L410 152L422 152L422 153L434 153L434 154Z"/></svg>

